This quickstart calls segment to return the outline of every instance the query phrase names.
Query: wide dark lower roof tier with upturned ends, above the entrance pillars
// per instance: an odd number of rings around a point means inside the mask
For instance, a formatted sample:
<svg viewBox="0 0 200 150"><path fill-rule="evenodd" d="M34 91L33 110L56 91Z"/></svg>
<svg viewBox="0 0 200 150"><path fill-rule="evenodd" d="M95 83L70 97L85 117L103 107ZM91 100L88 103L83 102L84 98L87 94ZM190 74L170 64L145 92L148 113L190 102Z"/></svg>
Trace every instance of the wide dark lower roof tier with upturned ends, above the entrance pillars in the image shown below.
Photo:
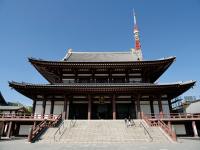
<svg viewBox="0 0 200 150"><path fill-rule="evenodd" d="M196 81L171 84L149 83L77 83L77 84L29 84L9 82L9 86L19 93L37 99L38 95L78 95L78 94L129 94L142 96L165 95L173 99L194 86Z"/></svg>

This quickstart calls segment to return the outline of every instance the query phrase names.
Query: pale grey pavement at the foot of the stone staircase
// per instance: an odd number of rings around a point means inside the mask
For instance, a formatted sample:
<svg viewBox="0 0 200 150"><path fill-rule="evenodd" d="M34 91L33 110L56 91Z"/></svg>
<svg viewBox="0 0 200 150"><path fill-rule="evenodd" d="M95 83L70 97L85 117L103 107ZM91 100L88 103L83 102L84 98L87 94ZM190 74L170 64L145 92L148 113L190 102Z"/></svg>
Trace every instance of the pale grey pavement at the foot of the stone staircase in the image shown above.
<svg viewBox="0 0 200 150"><path fill-rule="evenodd" d="M179 139L177 143L134 144L48 144L25 139L0 141L0 150L200 150L199 139Z"/></svg>

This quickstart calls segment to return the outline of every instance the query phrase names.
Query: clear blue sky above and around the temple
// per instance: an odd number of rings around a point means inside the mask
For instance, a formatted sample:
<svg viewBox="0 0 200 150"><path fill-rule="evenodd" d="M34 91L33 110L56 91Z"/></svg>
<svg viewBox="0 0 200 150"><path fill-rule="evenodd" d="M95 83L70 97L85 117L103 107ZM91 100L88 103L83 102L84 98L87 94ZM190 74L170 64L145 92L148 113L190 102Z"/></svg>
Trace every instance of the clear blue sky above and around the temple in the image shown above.
<svg viewBox="0 0 200 150"><path fill-rule="evenodd" d="M60 60L74 51L129 51L135 8L145 59L176 56L159 82L197 80L184 95L199 98L199 0L0 0L0 91L32 101L8 81L47 83L28 57Z"/></svg>

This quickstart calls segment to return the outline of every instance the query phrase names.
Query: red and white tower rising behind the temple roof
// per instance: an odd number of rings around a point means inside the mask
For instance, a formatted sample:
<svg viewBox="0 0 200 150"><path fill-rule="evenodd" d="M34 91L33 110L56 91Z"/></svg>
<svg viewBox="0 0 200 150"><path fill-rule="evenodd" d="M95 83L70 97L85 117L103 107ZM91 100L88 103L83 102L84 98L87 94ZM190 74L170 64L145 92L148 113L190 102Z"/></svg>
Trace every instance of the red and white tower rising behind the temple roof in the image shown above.
<svg viewBox="0 0 200 150"><path fill-rule="evenodd" d="M142 61L143 60L142 49L141 49L139 30L137 26L136 14L135 14L134 9L133 9L133 19L134 19L133 33L134 33L134 38L135 38L135 49L133 52L138 56L137 60Z"/></svg>

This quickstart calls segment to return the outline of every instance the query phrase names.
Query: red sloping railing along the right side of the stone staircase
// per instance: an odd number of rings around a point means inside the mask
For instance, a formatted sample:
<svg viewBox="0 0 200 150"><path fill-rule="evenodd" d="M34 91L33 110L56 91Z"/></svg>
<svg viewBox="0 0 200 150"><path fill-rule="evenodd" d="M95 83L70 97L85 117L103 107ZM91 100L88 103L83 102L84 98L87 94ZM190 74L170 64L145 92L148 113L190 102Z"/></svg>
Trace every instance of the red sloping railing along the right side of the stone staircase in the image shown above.
<svg viewBox="0 0 200 150"><path fill-rule="evenodd" d="M165 133L167 133L170 138L173 140L173 141L176 141L176 133L169 127L167 126L162 120L158 119L158 120L149 120L149 118L145 115L143 115L143 119L146 121L146 123L149 125L149 126L159 126L161 127Z"/></svg>

